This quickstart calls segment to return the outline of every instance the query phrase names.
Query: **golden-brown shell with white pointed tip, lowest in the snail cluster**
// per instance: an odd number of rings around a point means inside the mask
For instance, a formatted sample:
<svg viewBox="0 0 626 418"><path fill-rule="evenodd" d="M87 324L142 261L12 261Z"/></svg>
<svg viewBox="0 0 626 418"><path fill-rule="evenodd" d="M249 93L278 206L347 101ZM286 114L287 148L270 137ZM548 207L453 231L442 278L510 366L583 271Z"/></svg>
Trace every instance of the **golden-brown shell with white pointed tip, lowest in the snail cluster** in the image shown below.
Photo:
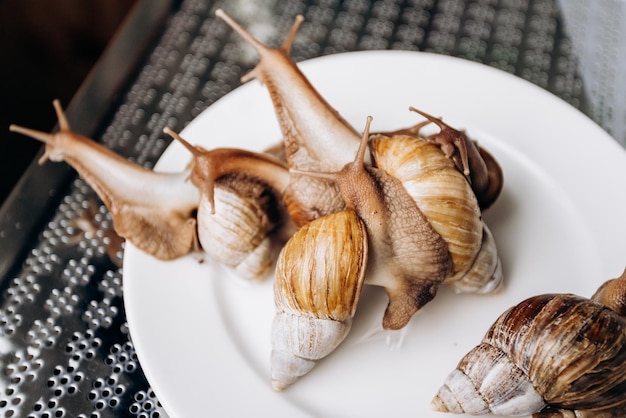
<svg viewBox="0 0 626 418"><path fill-rule="evenodd" d="M275 390L309 373L348 335L367 260L366 228L350 209L304 225L287 241L274 282L270 369Z"/></svg>

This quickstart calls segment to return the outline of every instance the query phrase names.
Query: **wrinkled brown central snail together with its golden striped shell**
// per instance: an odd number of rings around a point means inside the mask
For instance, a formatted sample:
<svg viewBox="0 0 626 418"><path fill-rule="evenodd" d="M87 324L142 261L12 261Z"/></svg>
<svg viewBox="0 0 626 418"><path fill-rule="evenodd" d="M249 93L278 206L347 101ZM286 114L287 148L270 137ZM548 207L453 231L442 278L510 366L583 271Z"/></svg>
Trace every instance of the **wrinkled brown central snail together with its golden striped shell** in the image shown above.
<svg viewBox="0 0 626 418"><path fill-rule="evenodd" d="M337 172L298 173L334 181L365 223L371 247L366 283L384 287L389 297L383 328L401 329L445 281L472 270L479 282L473 290L491 291L501 270L495 245L478 256L483 241L493 240L454 163L432 142L377 135L370 141L375 166L366 165L371 121L353 162Z"/></svg>

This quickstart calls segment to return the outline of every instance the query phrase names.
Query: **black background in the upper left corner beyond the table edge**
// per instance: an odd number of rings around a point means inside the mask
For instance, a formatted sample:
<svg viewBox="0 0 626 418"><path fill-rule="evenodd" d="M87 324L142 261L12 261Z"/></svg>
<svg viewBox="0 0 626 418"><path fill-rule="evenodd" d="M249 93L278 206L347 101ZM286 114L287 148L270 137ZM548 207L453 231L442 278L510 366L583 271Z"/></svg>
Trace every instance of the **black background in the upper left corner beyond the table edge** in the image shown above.
<svg viewBox="0 0 626 418"><path fill-rule="evenodd" d="M9 125L50 131L136 0L0 0L0 206L40 144Z"/></svg>

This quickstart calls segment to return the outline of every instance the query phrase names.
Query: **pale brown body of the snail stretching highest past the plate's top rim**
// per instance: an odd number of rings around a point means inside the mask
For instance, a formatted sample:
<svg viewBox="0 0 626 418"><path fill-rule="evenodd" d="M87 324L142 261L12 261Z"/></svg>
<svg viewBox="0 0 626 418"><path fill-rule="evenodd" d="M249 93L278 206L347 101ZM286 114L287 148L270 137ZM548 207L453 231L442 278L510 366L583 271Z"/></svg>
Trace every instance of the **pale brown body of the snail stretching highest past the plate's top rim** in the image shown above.
<svg viewBox="0 0 626 418"><path fill-rule="evenodd" d="M289 166L308 171L341 169L356 152L360 136L289 57L302 17L297 18L283 45L270 49L222 10L216 11L216 15L251 44L260 57L243 80L256 78L266 86L283 134ZM334 184L299 175L293 176L285 200L298 225L345 208Z"/></svg>

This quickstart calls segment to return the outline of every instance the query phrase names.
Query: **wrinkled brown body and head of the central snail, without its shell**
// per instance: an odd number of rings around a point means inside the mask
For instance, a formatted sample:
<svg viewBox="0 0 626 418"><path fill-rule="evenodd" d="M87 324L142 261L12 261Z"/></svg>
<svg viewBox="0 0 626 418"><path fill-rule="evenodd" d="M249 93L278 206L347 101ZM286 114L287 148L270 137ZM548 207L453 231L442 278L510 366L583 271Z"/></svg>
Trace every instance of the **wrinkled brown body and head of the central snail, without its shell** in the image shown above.
<svg viewBox="0 0 626 418"><path fill-rule="evenodd" d="M365 223L371 247L366 282L384 287L389 297L383 328L400 329L435 297L453 261L400 180L364 164L371 120L353 162L338 172L308 175L335 181L348 208Z"/></svg>

